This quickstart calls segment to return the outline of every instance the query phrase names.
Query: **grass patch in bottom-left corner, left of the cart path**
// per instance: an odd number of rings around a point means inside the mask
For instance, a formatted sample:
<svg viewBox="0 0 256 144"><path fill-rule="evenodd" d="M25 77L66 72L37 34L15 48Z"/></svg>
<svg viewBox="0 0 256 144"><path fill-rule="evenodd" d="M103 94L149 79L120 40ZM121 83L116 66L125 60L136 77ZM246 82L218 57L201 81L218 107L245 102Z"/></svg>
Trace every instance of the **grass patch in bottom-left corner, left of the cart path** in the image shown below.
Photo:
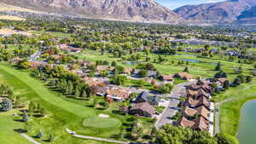
<svg viewBox="0 0 256 144"><path fill-rule="evenodd" d="M20 122L15 122L12 114L15 111L0 112L0 143L1 144L32 144L15 130L23 128Z"/></svg>

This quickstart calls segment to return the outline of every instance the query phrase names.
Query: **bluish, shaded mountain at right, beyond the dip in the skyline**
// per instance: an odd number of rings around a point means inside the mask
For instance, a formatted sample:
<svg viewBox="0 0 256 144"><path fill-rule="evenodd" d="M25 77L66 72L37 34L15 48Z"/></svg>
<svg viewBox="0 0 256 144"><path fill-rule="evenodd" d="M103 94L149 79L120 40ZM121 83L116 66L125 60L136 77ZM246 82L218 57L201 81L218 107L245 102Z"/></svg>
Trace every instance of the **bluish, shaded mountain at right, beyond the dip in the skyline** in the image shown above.
<svg viewBox="0 0 256 144"><path fill-rule="evenodd" d="M213 24L232 24L235 21L242 20L247 15L247 22L253 23L255 10L250 10L253 9L253 6L256 6L256 0L230 0L221 3L186 5L175 9L174 12L185 20L194 22L205 21Z"/></svg>

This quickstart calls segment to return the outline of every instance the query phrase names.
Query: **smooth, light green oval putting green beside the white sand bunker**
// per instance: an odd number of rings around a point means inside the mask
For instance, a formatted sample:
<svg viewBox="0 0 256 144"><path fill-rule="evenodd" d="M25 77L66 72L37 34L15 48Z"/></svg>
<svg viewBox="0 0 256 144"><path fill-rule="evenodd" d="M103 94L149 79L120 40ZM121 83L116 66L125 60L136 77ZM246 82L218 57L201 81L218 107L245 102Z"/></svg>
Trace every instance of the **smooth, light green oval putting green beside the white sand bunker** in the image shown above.
<svg viewBox="0 0 256 144"><path fill-rule="evenodd" d="M116 118L100 118L89 117L84 118L83 125L86 127L99 128L99 129L108 129L108 128L116 128L119 127L121 122Z"/></svg>

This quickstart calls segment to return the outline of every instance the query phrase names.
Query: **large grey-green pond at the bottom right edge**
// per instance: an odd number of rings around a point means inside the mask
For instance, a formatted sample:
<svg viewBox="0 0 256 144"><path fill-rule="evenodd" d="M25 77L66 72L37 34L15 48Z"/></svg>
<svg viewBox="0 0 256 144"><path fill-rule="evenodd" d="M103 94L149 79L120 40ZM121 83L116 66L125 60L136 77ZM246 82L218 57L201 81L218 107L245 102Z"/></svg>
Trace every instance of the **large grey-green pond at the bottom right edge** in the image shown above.
<svg viewBox="0 0 256 144"><path fill-rule="evenodd" d="M248 101L241 109L237 138L241 144L254 144L256 141L256 100Z"/></svg>

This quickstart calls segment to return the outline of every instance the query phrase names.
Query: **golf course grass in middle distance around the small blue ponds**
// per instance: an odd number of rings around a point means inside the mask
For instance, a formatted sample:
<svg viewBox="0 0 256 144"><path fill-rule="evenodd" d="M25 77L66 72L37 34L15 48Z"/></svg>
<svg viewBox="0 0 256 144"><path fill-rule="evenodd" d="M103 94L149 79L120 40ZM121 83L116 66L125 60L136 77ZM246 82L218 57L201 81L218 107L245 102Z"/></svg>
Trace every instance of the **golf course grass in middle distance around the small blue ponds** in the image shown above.
<svg viewBox="0 0 256 144"><path fill-rule="evenodd" d="M143 53L141 53L143 55ZM237 63L237 60L230 61L228 60L228 57L220 58L218 55L214 55L211 59L210 58L198 58L196 55L183 55L184 53L180 53L181 55L166 55L166 61L162 63L156 63L153 60L158 58L158 55L151 54L150 62L154 63L155 68L160 72L160 74L174 74L177 72L183 72L185 66L189 67L189 73L194 75L196 77L203 77L203 78L212 78L216 71L213 71L216 65L212 65L210 63L218 63L220 61L222 65L222 69L224 72L227 72L230 80L233 80L233 78L236 77L237 74L234 73L234 67L241 66L243 69L244 74L249 74L250 70L253 68L252 65L248 64L241 64ZM122 60L121 58L113 57L112 54L105 53L104 55L101 55L100 52L95 50L86 49L82 53L74 54L79 57L80 60L90 60L90 61L96 61L96 60L108 60L110 63L112 61L116 61L119 66L125 66L125 67L131 67L135 68L136 65L126 65L124 62L127 60ZM129 55L124 55L124 57L128 57ZM141 58L141 60L138 61L144 61L145 56ZM189 65L177 65L177 61L180 60L200 60L200 61L206 61L209 63L196 63L196 62L189 62ZM129 60L128 60L129 61ZM172 61L174 61L174 64L172 64ZM185 62L184 62L185 63Z"/></svg>

